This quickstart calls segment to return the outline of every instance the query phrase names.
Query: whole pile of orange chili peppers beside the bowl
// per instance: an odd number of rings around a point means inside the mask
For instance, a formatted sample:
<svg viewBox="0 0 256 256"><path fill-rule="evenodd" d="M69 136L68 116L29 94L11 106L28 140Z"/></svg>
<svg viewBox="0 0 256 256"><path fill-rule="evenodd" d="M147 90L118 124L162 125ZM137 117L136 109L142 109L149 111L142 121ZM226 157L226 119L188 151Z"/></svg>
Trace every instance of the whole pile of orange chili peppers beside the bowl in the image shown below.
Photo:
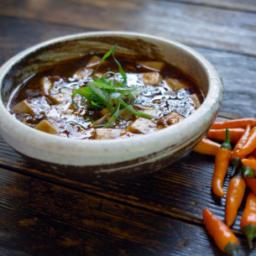
<svg viewBox="0 0 256 256"><path fill-rule="evenodd" d="M222 189L229 162L232 161L232 180L227 187L226 224L207 209L203 210L203 222L222 252L236 255L238 238L229 227L235 222L238 208L243 201L246 186L251 190L240 227L248 238L249 247L253 248L256 237L256 118L243 118L226 122L216 122L193 149L201 154L215 155L215 168L212 176L212 191L217 196L225 196ZM209 138L224 141L221 144ZM232 144L235 147L232 149Z"/></svg>

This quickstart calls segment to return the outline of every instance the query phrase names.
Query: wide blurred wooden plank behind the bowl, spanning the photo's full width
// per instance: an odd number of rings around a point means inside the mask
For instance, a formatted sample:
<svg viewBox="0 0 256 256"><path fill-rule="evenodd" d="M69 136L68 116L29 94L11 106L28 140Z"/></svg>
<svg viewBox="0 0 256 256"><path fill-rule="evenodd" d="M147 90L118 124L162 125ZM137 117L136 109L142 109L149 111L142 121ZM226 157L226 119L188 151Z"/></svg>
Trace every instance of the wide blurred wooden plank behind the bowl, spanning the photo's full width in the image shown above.
<svg viewBox="0 0 256 256"><path fill-rule="evenodd" d="M185 44L256 55L256 13L163 0L3 0L0 14L86 29L132 30Z"/></svg>

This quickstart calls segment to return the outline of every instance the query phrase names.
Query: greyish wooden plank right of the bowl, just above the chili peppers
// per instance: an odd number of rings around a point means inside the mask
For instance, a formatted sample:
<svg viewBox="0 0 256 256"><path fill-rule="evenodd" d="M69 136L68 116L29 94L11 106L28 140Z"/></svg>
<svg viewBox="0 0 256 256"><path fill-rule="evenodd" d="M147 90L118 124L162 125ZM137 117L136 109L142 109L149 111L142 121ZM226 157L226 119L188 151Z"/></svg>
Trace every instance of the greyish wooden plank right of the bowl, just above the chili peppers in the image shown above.
<svg viewBox="0 0 256 256"><path fill-rule="evenodd" d="M219 114L226 118L255 118L255 58L216 50L194 49L211 61L222 76L225 93Z"/></svg>

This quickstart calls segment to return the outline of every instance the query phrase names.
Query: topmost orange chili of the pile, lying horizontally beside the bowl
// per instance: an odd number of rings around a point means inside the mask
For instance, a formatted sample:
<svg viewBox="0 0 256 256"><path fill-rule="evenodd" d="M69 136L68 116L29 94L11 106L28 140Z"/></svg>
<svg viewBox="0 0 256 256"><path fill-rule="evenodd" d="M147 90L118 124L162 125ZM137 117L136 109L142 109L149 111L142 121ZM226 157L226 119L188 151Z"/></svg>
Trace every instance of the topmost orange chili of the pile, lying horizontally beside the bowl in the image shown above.
<svg viewBox="0 0 256 256"><path fill-rule="evenodd" d="M252 128L256 126L256 118L243 118L243 119L228 120L224 122L216 122L212 124L211 129L246 128L248 124Z"/></svg>

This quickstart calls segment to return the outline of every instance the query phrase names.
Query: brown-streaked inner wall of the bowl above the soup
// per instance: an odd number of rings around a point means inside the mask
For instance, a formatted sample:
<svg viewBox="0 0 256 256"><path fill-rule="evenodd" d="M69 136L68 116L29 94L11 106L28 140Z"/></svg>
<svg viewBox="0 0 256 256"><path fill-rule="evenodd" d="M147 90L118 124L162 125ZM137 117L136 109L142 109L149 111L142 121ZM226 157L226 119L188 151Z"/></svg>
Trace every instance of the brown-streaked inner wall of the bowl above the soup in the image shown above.
<svg viewBox="0 0 256 256"><path fill-rule="evenodd" d="M74 39L65 39L61 42L53 40L46 46L35 47L22 60L13 65L8 74L4 76L1 90L4 106L7 107L10 95L29 76L55 65L61 60L77 58L87 53L104 54L112 49L114 44L118 44L117 53L146 55L178 66L194 78L206 97L209 86L206 71L190 53L180 49L175 44L170 47L170 43L159 39L148 37L138 39L137 36L133 35L106 34L103 36L81 36Z"/></svg>

